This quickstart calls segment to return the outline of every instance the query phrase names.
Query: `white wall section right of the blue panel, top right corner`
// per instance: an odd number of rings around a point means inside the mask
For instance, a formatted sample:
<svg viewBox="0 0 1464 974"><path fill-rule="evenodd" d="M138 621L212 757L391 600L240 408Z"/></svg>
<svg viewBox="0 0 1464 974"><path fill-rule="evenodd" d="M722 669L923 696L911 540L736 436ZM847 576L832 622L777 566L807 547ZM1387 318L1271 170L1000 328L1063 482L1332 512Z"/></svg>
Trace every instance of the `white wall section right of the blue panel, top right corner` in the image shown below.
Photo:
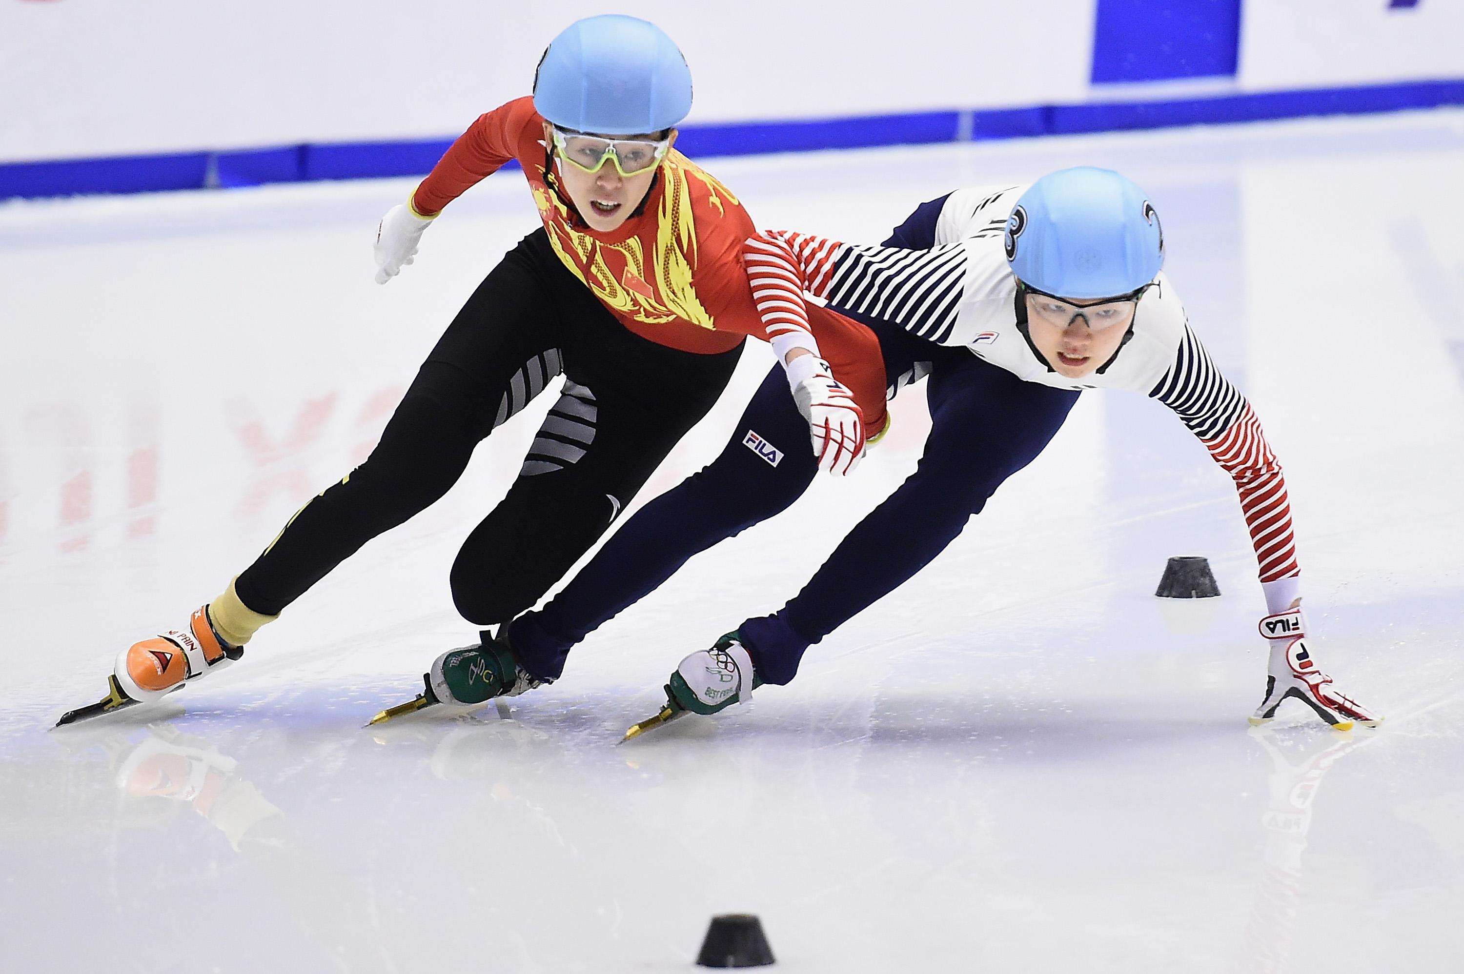
<svg viewBox="0 0 1464 974"><path fill-rule="evenodd" d="M1464 78L1464 3L1247 0L1240 18L1241 86L1319 88Z"/></svg>

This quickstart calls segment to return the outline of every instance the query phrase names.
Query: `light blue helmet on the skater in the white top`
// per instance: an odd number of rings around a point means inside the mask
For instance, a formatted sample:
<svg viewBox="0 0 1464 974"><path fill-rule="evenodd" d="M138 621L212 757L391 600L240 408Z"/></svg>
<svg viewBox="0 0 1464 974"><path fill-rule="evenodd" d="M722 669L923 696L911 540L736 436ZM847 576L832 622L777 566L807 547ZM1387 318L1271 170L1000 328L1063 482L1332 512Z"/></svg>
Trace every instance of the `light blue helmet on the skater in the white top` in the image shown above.
<svg viewBox="0 0 1464 974"><path fill-rule="evenodd" d="M1143 190L1086 165L1048 173L1022 193L1006 249L1012 273L1053 297L1118 297L1164 266L1164 231Z"/></svg>

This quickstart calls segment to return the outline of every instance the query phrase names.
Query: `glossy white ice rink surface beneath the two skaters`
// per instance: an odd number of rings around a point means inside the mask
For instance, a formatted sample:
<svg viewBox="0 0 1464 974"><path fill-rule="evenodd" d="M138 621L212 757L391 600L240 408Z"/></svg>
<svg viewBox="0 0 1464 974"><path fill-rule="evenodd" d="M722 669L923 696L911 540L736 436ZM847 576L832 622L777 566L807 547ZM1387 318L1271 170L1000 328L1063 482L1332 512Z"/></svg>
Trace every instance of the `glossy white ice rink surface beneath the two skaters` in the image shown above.
<svg viewBox="0 0 1464 974"><path fill-rule="evenodd" d="M154 708L50 731L370 449L498 256L507 173L372 282L407 180L0 206L0 968L1444 971L1464 949L1464 113L712 161L764 227L877 241L950 189L1118 168L1285 465L1322 667L1388 715L1266 731L1255 556L1173 414L1089 393L925 572L751 706L615 747L914 468L692 560L552 687L362 724L474 641L457 545L548 408ZM641 494L710 459L770 355ZM1170 603L1173 554L1224 595ZM514 553L505 551L511 559Z"/></svg>

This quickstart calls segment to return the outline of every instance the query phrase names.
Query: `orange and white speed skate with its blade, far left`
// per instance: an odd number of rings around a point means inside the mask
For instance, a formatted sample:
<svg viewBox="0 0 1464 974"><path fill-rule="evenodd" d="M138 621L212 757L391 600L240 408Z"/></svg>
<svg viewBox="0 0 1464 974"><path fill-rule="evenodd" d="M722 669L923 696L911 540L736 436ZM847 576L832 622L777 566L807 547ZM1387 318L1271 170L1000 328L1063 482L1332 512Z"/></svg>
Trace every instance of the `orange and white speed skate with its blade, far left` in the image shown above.
<svg viewBox="0 0 1464 974"><path fill-rule="evenodd" d="M198 680L227 667L242 655L244 655L242 646L220 639L208 619L208 605L201 605L189 619L186 630L170 629L160 636L135 642L117 654L113 673L107 677L107 696L89 706L67 711L56 725L155 701L189 680Z"/></svg>

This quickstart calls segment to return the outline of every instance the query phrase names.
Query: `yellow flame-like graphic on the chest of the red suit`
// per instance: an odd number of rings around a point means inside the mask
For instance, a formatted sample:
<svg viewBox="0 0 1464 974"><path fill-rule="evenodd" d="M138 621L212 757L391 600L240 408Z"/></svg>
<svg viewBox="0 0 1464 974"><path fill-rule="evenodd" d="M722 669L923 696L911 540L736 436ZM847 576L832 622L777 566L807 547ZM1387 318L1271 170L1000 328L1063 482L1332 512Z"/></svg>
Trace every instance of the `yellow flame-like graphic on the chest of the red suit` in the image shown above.
<svg viewBox="0 0 1464 974"><path fill-rule="evenodd" d="M545 175L552 178L550 174ZM569 208L558 195L542 186L534 187L534 203L546 216L549 243L553 244L559 260L594 291L606 307L646 325L666 325L681 319L714 329L712 313L697 297L694 282L697 224L691 209L691 177L706 184L710 192L709 202L719 214L726 214L722 196L738 205L736 197L701 167L676 151L668 154L660 167L663 192L656 212L656 241L649 254L649 266L640 237L610 244L574 230L569 225ZM558 215L558 219L553 219L553 215ZM650 285L647 290L651 295L625 288L606 262L608 253L619 254L625 271Z"/></svg>

